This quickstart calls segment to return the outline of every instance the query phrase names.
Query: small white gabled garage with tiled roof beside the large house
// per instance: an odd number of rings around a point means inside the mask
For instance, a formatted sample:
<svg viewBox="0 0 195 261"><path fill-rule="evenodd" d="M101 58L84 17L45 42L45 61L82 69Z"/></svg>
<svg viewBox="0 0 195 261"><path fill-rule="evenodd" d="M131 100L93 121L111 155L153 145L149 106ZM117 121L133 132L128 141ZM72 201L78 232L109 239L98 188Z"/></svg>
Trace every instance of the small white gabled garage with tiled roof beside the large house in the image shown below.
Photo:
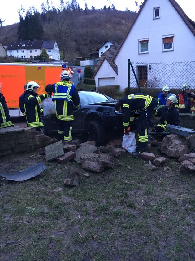
<svg viewBox="0 0 195 261"><path fill-rule="evenodd" d="M115 62L111 62L120 43L115 43L105 53L103 53L94 69L93 78L95 79L96 87L104 85L118 84L117 66Z"/></svg>

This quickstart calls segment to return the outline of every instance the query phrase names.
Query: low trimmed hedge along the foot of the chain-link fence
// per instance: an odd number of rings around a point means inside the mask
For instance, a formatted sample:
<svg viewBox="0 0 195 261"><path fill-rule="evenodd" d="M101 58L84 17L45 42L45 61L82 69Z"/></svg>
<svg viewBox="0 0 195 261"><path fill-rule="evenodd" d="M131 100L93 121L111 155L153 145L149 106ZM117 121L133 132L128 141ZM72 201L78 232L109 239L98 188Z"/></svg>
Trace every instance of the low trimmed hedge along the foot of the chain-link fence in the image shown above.
<svg viewBox="0 0 195 261"><path fill-rule="evenodd" d="M158 94L162 92L162 88L144 88L144 87L141 87L141 90L142 90L142 93L144 94L148 94L154 98L157 98L158 97ZM138 87L136 88L133 88L131 87L129 89L130 91L130 94L133 94L133 93L140 93L140 90ZM175 95L178 95L181 93L181 88L174 88L174 89L171 89L170 91L172 94L175 94ZM128 88L126 87L124 89L124 94L125 96L128 95Z"/></svg>

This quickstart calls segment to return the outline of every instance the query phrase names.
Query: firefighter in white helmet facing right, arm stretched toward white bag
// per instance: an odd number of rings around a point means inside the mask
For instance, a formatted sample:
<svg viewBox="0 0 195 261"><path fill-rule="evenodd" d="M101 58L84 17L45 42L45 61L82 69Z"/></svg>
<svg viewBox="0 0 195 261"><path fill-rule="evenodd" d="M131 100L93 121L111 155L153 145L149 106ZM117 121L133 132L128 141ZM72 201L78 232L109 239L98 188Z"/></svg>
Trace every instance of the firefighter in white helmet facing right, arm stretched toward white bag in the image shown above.
<svg viewBox="0 0 195 261"><path fill-rule="evenodd" d="M38 96L37 88L39 87L36 82L30 81L27 84L26 93L24 94L24 110L26 113L27 126L34 127L37 131L40 131L43 127L40 103L49 97L49 94L41 94Z"/></svg>

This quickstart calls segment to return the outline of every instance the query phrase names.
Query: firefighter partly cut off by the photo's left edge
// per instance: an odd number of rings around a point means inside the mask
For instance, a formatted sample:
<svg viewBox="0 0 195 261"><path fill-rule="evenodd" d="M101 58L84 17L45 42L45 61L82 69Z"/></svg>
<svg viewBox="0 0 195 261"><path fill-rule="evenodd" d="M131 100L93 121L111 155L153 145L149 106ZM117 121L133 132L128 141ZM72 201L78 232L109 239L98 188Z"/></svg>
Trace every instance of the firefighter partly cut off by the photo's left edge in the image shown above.
<svg viewBox="0 0 195 261"><path fill-rule="evenodd" d="M2 129L12 126L14 126L14 124L11 122L7 102L5 100L5 97L1 93L0 86L0 128Z"/></svg>

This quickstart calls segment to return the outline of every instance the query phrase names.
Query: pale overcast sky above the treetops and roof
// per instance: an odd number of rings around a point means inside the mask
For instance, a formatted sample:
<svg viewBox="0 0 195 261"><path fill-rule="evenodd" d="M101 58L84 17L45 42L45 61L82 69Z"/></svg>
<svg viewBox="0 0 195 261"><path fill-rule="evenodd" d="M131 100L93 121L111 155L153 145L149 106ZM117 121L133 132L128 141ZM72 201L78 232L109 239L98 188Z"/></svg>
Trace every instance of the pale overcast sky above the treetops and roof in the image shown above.
<svg viewBox="0 0 195 261"><path fill-rule="evenodd" d="M162 0L163 1L163 0ZM18 8L21 7L21 5L24 7L25 11L32 5L37 7L38 11L41 11L41 2L42 0L33 0L31 1L24 1L24 0L1 0L1 6L0 6L0 19L2 21L5 21L3 25L11 25L14 23L19 22L19 15L18 15ZM43 1L44 3L46 0ZM49 0L49 3L52 2L52 6L55 6L56 8L59 7L60 0ZM64 0L64 2L66 2ZM67 1L68 2L68 1ZM71 1L70 1L71 2ZM84 0L77 0L77 2L80 5L80 8L85 9L85 1ZM115 8L117 10L125 10L128 8L131 11L138 11L138 8L135 6L135 0L128 0L126 1L119 1L119 0L86 0L87 6L89 9L91 9L91 6L93 5L96 9L103 8L104 5L108 7L112 4L115 5ZM142 1L137 0L138 4L141 4ZM195 21L195 0L176 0L176 2L180 5L180 7L184 10L184 12L187 14L189 18L191 18L193 21ZM121 4L122 3L122 4Z"/></svg>

